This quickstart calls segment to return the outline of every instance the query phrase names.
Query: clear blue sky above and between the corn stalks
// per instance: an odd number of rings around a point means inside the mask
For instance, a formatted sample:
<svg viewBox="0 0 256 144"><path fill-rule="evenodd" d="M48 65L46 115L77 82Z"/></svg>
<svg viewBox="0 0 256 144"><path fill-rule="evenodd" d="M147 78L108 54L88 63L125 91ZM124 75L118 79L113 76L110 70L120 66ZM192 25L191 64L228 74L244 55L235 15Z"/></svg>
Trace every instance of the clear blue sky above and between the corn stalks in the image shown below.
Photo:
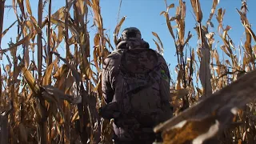
<svg viewBox="0 0 256 144"><path fill-rule="evenodd" d="M65 0L52 0L52 12L58 10L59 7L65 5ZM102 18L103 18L103 26L106 29L106 34L110 35L111 40L113 40L113 32L114 28L117 25L117 17L118 17L118 6L120 0L101 0L100 5L102 7ZM174 3L175 6L178 6L178 0L167 0L168 5ZM190 40L190 46L196 50L196 43L197 43L197 35L194 31L195 21L193 17L193 10L190 6L190 0L185 0L186 2L186 34L191 31L193 34L193 38ZM209 17L210 9L212 6L212 0L201 0L202 12L203 12L203 24L206 23L206 20ZM25 3L25 2L24 2ZM25 3L26 4L26 3ZM248 9L249 13L247 15L250 23L252 24L252 29L255 30L254 24L256 24L256 18L254 14L256 10L254 6L256 6L255 0L248 0ZM7 0L6 5L11 5L11 1ZM37 14L37 6L38 1L30 0L30 5L32 11ZM240 44L240 39L244 33L244 28L240 22L240 17L238 12L235 10L238 8L240 10L241 7L241 0L220 0L219 5L217 7L222 9L226 9L226 14L224 16L224 27L229 25L232 29L229 31L231 38L233 38L235 46ZM47 8L45 9L47 10ZM175 64L177 63L177 58L175 55L175 47L174 41L170 36L169 30L166 26L166 19L160 13L166 10L164 0L122 0L122 7L120 18L122 16L126 16L126 21L122 25L122 29L126 28L127 26L135 26L142 32L142 38L150 43L150 47L155 49L156 46L152 38L152 31L156 32L158 36L161 38L163 46L164 46L164 58L166 58L166 62L170 63L171 67L174 68ZM90 14L90 13L89 13ZM170 16L174 16L175 9L170 10ZM44 14L46 16L46 14ZM90 15L91 18L91 15ZM13 10L5 10L4 15L4 26L3 30L5 30L12 22L15 21L14 11ZM218 23L216 21L215 16L213 17L214 22L214 29L210 29L215 34L217 34L217 26ZM174 25L174 22L172 23ZM94 29L89 29L90 31L90 38L94 38ZM10 42L10 37L16 36L17 34L17 27L13 27L4 38L2 38L2 49L8 47L7 43ZM221 42L222 44L222 42ZM90 44L91 50L93 44ZM64 46L63 46L64 47ZM19 49L18 53L22 53L22 50ZM6 61L6 58L3 58L3 61Z"/></svg>

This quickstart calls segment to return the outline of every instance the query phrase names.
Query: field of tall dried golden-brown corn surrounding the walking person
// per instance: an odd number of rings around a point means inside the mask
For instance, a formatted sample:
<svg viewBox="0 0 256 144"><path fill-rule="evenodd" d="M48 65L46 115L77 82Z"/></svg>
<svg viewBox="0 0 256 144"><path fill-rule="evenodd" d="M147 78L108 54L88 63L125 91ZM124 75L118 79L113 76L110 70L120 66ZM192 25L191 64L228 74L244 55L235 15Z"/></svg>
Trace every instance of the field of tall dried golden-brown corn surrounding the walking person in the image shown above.
<svg viewBox="0 0 256 144"><path fill-rule="evenodd" d="M98 115L98 108L106 105L101 70L104 58L117 45L126 17L118 22L114 42L110 42L103 26L100 0L66 0L66 5L57 11L51 10L51 0L38 0L38 19L32 13L30 0L12 0L12 6L5 2L0 0L0 46L8 30L18 26L18 31L9 47L0 50L6 62L0 69L0 143L113 143L112 121ZM166 10L159 14L166 18L166 30L174 41L177 57L174 70L170 70L177 74L170 79L170 104L176 119L156 126L155 131L162 132L163 143L192 142L208 130L219 132L215 138L218 143L255 143L256 36L246 18L246 1L237 9L245 30L245 40L238 47L229 34L231 27L223 24L226 10L216 8L219 0L213 0L209 18L203 15L206 13L202 13L199 0L190 0L196 27L188 32L186 2L178 0L177 6L163 2ZM7 8L14 11L17 20L3 30ZM46 8L48 14L43 18ZM170 9L176 9L175 14L170 14ZM88 32L88 13L93 14L97 34ZM216 24L212 22L214 16ZM211 31L215 26L218 34ZM157 32L152 34L156 50L162 54L161 38ZM193 34L198 38L197 46L189 45ZM216 37L221 41L216 42ZM65 46L65 55L58 53L61 45ZM22 50L22 56L18 50ZM214 101L207 107L210 100ZM235 104L235 114L222 113ZM196 109L199 106L203 110ZM220 126L228 125L210 129L216 124L216 115L223 120ZM189 119L188 125L174 126L184 118ZM194 143L202 143L206 138L202 139Z"/></svg>

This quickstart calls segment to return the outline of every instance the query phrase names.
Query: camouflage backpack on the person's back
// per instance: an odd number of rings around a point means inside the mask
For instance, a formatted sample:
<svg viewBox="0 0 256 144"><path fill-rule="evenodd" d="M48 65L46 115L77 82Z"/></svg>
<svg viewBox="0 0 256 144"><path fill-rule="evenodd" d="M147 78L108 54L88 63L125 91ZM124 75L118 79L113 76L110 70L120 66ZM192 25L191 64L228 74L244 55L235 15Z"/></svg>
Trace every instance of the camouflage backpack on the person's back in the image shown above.
<svg viewBox="0 0 256 144"><path fill-rule="evenodd" d="M124 50L119 66L122 101L118 102L125 119L135 119L140 126L154 126L161 110L161 70L156 51L145 48Z"/></svg>

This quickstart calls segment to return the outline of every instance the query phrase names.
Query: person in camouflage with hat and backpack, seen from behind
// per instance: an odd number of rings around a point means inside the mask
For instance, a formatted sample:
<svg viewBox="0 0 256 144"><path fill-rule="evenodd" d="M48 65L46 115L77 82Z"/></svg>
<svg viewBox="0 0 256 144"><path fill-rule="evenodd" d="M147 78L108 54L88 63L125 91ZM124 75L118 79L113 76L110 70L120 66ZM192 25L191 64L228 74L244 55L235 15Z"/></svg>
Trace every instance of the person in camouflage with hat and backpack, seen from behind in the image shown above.
<svg viewBox="0 0 256 144"><path fill-rule="evenodd" d="M108 103L102 117L114 118L115 143L154 142L153 127L172 116L169 79L162 55L149 48L138 29L124 30L102 70Z"/></svg>

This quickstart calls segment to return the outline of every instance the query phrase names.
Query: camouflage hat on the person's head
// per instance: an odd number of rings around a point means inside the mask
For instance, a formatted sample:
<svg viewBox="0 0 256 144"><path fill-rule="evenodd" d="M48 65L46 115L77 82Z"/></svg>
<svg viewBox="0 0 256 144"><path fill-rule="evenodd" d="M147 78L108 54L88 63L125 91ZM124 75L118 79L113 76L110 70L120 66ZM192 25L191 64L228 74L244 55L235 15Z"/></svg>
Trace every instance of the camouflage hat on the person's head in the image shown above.
<svg viewBox="0 0 256 144"><path fill-rule="evenodd" d="M122 40L128 38L142 38L141 31L136 27L128 27L125 30L122 30Z"/></svg>

